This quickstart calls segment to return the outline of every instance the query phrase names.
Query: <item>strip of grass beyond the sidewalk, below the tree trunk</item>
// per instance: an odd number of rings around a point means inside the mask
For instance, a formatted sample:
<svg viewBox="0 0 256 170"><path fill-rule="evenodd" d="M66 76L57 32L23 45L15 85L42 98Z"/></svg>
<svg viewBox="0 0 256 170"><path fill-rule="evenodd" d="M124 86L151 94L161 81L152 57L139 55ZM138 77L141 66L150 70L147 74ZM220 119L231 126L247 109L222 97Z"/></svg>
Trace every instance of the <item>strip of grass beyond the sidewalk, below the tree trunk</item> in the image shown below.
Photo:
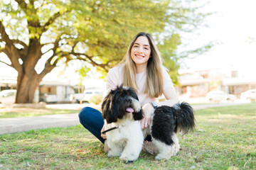
<svg viewBox="0 0 256 170"><path fill-rule="evenodd" d="M0 118L31 117L38 115L55 115L79 113L80 110L61 110L51 108L0 108Z"/></svg>

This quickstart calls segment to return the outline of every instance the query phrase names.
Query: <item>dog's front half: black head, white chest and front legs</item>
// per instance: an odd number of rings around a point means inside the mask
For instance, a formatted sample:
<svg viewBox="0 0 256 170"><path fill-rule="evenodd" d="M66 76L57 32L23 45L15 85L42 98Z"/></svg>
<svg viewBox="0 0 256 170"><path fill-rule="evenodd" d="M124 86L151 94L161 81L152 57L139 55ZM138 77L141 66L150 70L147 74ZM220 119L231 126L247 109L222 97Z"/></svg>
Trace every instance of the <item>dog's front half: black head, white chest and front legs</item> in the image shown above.
<svg viewBox="0 0 256 170"><path fill-rule="evenodd" d="M108 157L134 162L142 150L144 137L138 120L143 118L139 98L131 87L117 86L102 103ZM109 131L110 130L110 131Z"/></svg>

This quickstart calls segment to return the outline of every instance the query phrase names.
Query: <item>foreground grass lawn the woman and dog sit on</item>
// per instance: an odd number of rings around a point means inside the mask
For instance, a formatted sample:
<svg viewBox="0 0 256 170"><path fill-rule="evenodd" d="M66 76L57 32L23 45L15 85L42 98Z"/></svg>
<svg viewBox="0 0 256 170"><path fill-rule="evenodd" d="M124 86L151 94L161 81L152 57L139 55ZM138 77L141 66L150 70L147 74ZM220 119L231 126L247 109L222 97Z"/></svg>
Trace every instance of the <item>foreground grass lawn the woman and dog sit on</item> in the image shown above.
<svg viewBox="0 0 256 170"><path fill-rule="evenodd" d="M196 120L176 156L142 152L133 164L108 158L82 125L0 135L0 169L256 169L256 103L196 111Z"/></svg>

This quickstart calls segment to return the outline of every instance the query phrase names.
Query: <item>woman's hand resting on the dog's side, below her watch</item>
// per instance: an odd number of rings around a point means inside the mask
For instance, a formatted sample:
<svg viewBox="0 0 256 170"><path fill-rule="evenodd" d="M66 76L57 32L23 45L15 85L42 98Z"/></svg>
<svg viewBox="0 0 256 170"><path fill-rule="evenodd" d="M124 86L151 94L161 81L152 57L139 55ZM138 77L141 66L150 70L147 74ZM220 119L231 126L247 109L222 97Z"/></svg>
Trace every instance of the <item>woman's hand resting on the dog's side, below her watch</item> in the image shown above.
<svg viewBox="0 0 256 170"><path fill-rule="evenodd" d="M144 118L142 120L139 120L142 129L147 128L150 125L151 122L151 115L154 112L154 108L151 106L150 103L146 103L142 107L143 116Z"/></svg>

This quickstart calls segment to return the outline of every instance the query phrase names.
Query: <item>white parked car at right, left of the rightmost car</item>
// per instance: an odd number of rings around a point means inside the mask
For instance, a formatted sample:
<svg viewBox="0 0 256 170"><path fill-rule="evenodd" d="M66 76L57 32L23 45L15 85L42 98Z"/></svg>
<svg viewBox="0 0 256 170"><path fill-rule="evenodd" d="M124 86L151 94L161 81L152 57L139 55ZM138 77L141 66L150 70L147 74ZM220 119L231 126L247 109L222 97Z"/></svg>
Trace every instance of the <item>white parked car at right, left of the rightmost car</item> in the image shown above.
<svg viewBox="0 0 256 170"><path fill-rule="evenodd" d="M225 94L224 91L210 91L206 94L208 101L235 101L233 94Z"/></svg>

